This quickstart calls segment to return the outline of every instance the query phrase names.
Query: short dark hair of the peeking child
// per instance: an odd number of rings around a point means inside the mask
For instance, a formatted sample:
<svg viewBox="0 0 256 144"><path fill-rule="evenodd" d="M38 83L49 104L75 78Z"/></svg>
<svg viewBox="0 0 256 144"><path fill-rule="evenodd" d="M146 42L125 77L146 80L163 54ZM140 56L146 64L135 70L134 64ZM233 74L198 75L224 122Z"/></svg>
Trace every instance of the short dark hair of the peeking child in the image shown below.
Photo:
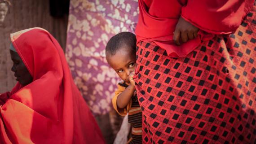
<svg viewBox="0 0 256 144"><path fill-rule="evenodd" d="M106 45L106 57L113 56L122 47L128 46L132 48L132 52L136 53L136 36L131 32L121 32L114 35Z"/></svg>

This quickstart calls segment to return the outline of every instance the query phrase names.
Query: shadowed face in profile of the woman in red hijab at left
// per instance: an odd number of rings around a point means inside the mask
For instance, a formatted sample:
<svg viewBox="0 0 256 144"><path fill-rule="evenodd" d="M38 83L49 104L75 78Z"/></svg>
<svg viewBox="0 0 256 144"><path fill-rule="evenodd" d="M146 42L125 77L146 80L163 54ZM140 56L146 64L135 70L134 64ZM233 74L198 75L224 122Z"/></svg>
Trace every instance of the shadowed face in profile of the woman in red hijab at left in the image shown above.
<svg viewBox="0 0 256 144"><path fill-rule="evenodd" d="M14 72L16 80L23 86L28 85L33 81L33 78L27 70L26 65L23 63L17 52L10 50L10 54L13 61L12 71Z"/></svg>

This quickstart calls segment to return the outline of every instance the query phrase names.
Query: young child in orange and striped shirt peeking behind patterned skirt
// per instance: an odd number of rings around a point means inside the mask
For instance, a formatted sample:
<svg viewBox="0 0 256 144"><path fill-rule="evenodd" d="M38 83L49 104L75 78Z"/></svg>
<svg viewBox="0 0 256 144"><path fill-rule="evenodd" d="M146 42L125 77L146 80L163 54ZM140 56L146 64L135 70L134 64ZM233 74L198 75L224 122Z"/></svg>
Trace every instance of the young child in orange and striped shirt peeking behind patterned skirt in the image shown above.
<svg viewBox="0 0 256 144"><path fill-rule="evenodd" d="M106 60L122 79L112 99L115 110L132 124L132 138L128 144L141 144L141 107L132 78L136 68L136 36L121 32L113 36L106 45Z"/></svg>

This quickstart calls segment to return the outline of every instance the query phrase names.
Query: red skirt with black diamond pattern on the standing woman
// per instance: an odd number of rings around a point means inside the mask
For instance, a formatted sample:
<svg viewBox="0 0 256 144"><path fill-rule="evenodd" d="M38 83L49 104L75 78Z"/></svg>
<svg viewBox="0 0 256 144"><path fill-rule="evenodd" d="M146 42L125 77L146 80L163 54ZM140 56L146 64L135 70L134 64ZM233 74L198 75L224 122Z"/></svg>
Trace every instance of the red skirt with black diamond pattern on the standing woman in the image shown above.
<svg viewBox="0 0 256 144"><path fill-rule="evenodd" d="M142 144L256 144L255 20L256 4L234 33L186 57L137 44Z"/></svg>

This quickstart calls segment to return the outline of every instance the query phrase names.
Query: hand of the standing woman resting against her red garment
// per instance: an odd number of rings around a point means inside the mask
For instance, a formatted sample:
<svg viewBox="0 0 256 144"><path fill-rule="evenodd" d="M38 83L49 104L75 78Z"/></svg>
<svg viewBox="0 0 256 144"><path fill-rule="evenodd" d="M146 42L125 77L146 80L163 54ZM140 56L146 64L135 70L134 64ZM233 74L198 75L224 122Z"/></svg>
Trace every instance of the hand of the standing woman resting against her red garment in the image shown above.
<svg viewBox="0 0 256 144"><path fill-rule="evenodd" d="M193 26L190 22L185 21L182 17L176 25L175 31L173 32L173 40L177 45L180 45L180 38L183 43L188 41L188 39L194 39L197 37L197 32L199 28Z"/></svg>

